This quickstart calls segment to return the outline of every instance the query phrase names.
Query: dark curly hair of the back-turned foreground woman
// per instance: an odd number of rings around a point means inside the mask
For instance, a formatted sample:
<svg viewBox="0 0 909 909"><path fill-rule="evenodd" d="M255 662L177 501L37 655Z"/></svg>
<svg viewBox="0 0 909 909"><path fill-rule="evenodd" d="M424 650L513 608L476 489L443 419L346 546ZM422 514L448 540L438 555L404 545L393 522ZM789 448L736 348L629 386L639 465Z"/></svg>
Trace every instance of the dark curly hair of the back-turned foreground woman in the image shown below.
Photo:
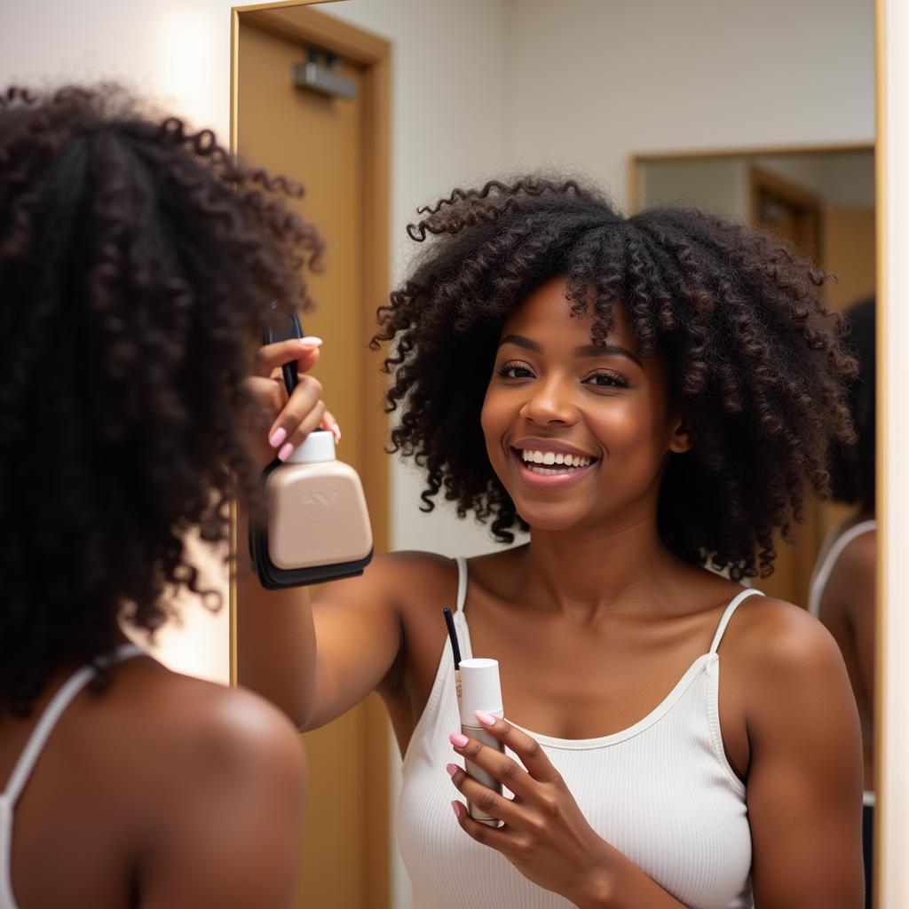
<svg viewBox="0 0 909 909"><path fill-rule="evenodd" d="M210 130L112 85L0 95L0 707L200 589L185 544L254 494L240 435L269 303L321 240ZM261 336L261 335L258 335Z"/></svg>

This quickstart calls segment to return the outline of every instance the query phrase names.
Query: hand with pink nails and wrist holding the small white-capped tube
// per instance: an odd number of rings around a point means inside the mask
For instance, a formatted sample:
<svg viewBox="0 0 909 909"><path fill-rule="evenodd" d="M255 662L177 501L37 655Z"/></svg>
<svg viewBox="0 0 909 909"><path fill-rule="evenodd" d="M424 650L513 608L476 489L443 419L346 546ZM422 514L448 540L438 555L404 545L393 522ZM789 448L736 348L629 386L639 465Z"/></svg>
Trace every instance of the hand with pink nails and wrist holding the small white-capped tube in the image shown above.
<svg viewBox="0 0 909 909"><path fill-rule="evenodd" d="M464 804L453 802L458 824L477 843L502 853L524 877L577 905L595 905L609 892L614 848L587 823L574 796L531 736L505 720L477 713L477 719L521 759L500 754L475 739L453 734L454 751L482 767L514 793L506 798L477 783L464 769L448 764L448 773L468 802L504 822L480 824Z"/></svg>

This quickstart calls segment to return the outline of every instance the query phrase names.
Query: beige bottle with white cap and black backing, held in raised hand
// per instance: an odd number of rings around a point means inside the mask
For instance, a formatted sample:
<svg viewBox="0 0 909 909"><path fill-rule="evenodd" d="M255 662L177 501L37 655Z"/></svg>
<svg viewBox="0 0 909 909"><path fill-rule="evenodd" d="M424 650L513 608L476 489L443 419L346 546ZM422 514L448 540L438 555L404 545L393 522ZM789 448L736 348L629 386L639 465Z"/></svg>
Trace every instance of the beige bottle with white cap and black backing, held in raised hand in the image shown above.
<svg viewBox="0 0 909 909"><path fill-rule="evenodd" d="M275 316L275 318L279 318ZM285 317L286 319L286 317ZM266 343L302 337L292 316ZM284 368L288 394L296 385L294 364ZM373 532L360 477L335 458L335 436L317 429L286 461L265 468L265 525L249 525L249 548L261 584L275 590L322 584L363 574L373 557Z"/></svg>

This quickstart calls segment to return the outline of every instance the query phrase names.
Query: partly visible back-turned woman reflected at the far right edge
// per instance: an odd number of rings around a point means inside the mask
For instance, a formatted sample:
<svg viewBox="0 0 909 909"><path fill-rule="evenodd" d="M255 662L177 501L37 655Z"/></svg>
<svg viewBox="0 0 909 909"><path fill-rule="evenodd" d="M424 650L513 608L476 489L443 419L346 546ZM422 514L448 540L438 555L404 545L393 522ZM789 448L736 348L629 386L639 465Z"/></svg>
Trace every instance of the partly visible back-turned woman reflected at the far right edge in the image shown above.
<svg viewBox="0 0 909 909"><path fill-rule="evenodd" d="M851 306L846 314L849 345L859 373L849 388L854 445L839 445L831 461L832 497L852 506L852 514L834 528L818 559L808 611L834 635L843 652L862 720L864 753L865 905L872 905L871 870L874 834L874 575L877 570L877 520L874 513L875 319L874 297Z"/></svg>

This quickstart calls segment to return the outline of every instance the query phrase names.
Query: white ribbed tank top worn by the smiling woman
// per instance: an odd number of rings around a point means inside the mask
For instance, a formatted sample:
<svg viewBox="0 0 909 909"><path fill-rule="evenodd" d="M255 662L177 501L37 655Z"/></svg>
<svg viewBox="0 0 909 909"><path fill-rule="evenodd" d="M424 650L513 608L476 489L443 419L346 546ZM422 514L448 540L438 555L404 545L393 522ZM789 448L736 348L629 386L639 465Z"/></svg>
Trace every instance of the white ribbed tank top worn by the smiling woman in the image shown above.
<svg viewBox="0 0 909 909"><path fill-rule="evenodd" d="M462 657L469 658L474 654L464 614L467 567L464 559L457 563L454 625ZM735 609L754 594L760 591L744 590L734 598L710 651L633 726L583 740L527 730L543 745L597 834L690 909L754 906L745 788L724 753L716 653ZM506 716L507 710L505 704ZM459 795L445 764L456 759L448 735L460 728L454 661L446 644L407 747L397 809L414 909L570 909L564 897L532 884L503 855L475 843L458 826L450 803Z"/></svg>

